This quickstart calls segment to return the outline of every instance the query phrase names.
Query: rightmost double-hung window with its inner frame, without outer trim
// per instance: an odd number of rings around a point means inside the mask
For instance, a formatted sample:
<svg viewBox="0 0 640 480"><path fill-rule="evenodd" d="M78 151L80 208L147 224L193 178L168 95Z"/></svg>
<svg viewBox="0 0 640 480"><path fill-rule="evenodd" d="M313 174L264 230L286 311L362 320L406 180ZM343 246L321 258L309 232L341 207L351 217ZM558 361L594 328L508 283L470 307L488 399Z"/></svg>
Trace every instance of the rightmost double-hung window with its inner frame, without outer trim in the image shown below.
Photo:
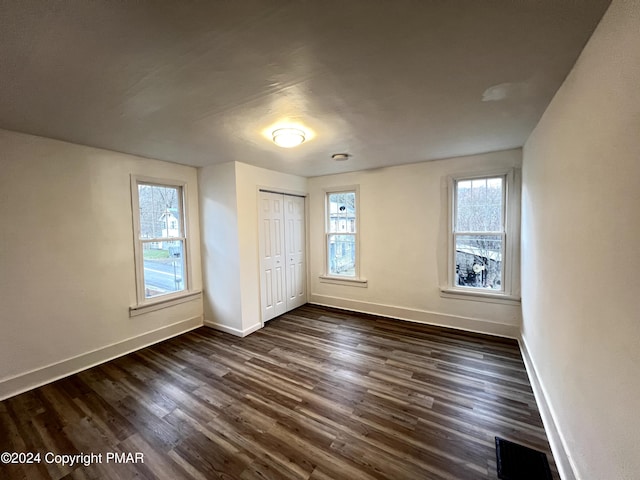
<svg viewBox="0 0 640 480"><path fill-rule="evenodd" d="M513 173L452 179L450 289L512 296L517 221Z"/></svg>

